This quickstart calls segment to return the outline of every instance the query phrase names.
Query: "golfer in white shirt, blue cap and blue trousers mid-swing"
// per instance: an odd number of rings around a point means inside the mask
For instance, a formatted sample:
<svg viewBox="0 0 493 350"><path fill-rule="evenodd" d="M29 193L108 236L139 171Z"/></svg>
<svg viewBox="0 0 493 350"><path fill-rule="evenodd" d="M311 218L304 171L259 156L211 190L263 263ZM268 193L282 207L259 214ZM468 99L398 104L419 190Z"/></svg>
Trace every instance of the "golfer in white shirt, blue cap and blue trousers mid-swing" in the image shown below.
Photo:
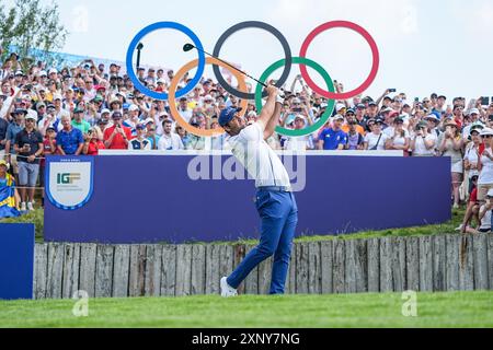
<svg viewBox="0 0 493 350"><path fill-rule="evenodd" d="M230 136L228 142L236 159L255 179L256 210L262 220L260 244L229 276L220 280L221 295L238 295L237 289L263 260L274 255L270 294L284 294L293 238L298 222L298 208L289 176L277 154L265 142L278 125L283 100L270 82L267 102L256 122L245 126L238 115L241 108L226 108L219 125Z"/></svg>

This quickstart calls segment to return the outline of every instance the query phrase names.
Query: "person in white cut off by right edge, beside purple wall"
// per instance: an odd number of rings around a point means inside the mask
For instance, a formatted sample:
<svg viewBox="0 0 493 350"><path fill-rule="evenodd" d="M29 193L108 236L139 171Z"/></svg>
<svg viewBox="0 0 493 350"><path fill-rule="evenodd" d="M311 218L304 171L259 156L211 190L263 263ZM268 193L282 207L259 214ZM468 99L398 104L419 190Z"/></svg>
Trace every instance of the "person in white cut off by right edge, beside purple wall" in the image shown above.
<svg viewBox="0 0 493 350"><path fill-rule="evenodd" d="M480 153L478 162L478 201L484 205L486 194L493 189L493 129L484 128L480 132L484 142L484 151Z"/></svg>

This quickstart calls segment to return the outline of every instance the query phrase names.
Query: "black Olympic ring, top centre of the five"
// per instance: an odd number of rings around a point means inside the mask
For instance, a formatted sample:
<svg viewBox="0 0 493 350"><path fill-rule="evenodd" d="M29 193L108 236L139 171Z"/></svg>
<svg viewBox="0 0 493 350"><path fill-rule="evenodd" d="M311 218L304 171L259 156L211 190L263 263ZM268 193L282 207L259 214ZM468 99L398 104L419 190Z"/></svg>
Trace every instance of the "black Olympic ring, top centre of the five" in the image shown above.
<svg viewBox="0 0 493 350"><path fill-rule="evenodd" d="M268 33L274 35L280 42L280 44L283 45L286 63L284 66L283 75L280 75L280 79L275 84L277 88L283 86L284 83L289 78L289 73L291 71L291 66L293 66L291 48L289 47L289 43L286 40L284 35L279 31L277 31L275 27L273 27L272 25L270 25L267 23L259 22L259 21L246 21L246 22L241 22L241 23L238 23L238 24L233 25L232 27L227 30L219 37L219 39L216 43L216 46L214 47L213 55L215 57L219 57L219 52L221 50L221 47L225 44L226 39L228 39L228 37L230 37L232 34L234 34L238 31L245 30L245 28L251 28L251 27L261 28L261 30L267 31ZM227 92L229 92L230 94L232 94L232 95L234 95L234 96L237 96L239 98L242 98L242 100L255 100L255 94L254 93L241 92L241 91L238 91L237 89L232 88L230 84L228 84L228 82L225 80L225 78L222 78L222 74L221 74L221 72L219 70L219 66L213 65L213 70L214 70L214 74L216 75L216 79L218 80L219 84ZM262 96L266 97L267 96L267 92L264 91Z"/></svg>

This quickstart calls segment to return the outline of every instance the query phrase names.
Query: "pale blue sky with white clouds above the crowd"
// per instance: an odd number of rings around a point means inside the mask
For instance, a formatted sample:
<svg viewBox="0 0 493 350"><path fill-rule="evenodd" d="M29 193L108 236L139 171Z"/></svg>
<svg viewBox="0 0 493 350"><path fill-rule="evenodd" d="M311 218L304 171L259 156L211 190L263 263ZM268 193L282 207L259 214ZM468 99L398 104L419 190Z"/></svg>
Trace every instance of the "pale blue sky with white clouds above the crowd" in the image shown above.
<svg viewBox="0 0 493 350"><path fill-rule="evenodd" d="M8 0L12 3L13 0ZM45 1L47 2L47 1ZM62 23L70 32L60 50L125 60L128 45L145 26L173 21L190 27L211 52L219 36L243 21L263 21L280 31L294 56L318 25L335 20L359 24L376 40L380 54L378 75L365 92L386 89L405 92L409 100L435 92L447 96L493 96L493 1L491 0L64 0L58 1ZM179 70L196 59L183 52L190 39L174 30L153 32L142 39L141 62ZM278 40L267 32L237 32L220 57L260 77L284 57ZM320 63L345 90L363 83L371 68L369 46L356 32L333 28L320 34L307 57ZM323 80L309 69L321 86ZM195 71L191 71L193 75ZM291 67L289 84L299 73ZM205 72L213 77L211 69ZM278 79L280 70L273 78ZM323 86L325 88L325 86Z"/></svg>

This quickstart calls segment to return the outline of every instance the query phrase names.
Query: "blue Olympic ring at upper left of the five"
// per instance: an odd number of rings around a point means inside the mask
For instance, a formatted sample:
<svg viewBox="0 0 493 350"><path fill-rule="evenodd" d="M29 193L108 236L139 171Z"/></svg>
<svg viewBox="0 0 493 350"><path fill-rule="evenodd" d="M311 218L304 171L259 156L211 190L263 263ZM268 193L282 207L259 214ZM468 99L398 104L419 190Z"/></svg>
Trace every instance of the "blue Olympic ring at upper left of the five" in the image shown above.
<svg viewBox="0 0 493 350"><path fill-rule="evenodd" d="M187 35L194 42L194 45L198 48L197 72L195 73L194 79L192 79L188 82L188 84L186 84L185 88L176 91L176 97L182 97L182 96L186 95L188 92L191 92L194 89L195 85L197 85L199 83L202 75L204 74L206 59L205 59L205 55L203 52L204 47L202 46L202 43L200 43L198 36L195 35L195 33L192 32L191 28L184 26L183 24L180 24L176 22L157 22L154 24L146 26L144 30L141 30L139 33L137 33L137 35L131 40L130 46L128 47L128 50L127 50L126 66L127 66L128 78L130 78L131 82L134 83L134 86L137 90L139 90L140 92L142 92L144 94L146 94L154 100L167 101L168 100L167 93L158 93L158 92L151 91L151 90L147 89L146 86L144 86L144 84L140 82L140 80L135 74L134 67L133 67L134 51L135 51L137 45L142 39L142 37L145 37L149 33L152 33L154 31L162 30L162 28L171 28L171 30L176 30L176 31L182 32L183 34Z"/></svg>

